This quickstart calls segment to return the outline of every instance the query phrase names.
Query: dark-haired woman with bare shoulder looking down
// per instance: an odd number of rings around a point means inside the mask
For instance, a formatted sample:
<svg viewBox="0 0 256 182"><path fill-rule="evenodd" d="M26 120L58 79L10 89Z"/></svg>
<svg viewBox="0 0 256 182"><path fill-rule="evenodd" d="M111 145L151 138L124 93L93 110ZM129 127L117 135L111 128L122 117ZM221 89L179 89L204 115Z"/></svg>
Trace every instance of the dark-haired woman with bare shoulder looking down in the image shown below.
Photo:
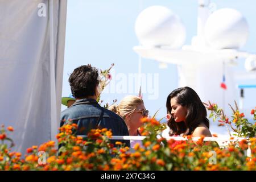
<svg viewBox="0 0 256 182"><path fill-rule="evenodd" d="M185 86L172 91L167 97L166 107L170 136L212 137L207 110L192 88Z"/></svg>

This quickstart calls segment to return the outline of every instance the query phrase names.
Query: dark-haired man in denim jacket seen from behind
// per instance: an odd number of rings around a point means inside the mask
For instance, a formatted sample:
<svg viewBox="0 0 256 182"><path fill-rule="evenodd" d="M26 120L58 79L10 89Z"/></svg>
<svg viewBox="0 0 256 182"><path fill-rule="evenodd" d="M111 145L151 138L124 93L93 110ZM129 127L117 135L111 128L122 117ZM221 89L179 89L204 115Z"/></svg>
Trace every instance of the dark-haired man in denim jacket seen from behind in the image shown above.
<svg viewBox="0 0 256 182"><path fill-rule="evenodd" d="M111 129L113 135L129 135L123 119L112 111L101 107L96 101L100 94L96 68L90 64L76 68L69 76L69 84L76 102L61 112L60 126L68 121L76 123L77 135L86 135L90 129L96 128ZM130 147L129 140L122 140L122 142Z"/></svg>

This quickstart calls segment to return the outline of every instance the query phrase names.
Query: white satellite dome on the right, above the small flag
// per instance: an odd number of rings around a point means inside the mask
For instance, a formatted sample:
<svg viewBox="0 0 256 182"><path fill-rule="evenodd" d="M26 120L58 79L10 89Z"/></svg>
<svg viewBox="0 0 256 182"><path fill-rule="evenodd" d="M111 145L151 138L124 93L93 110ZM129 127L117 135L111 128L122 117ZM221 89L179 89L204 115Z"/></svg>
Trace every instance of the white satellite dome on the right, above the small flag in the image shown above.
<svg viewBox="0 0 256 182"><path fill-rule="evenodd" d="M246 19L234 9L214 11L205 24L205 38L215 49L239 49L245 45L248 34Z"/></svg>

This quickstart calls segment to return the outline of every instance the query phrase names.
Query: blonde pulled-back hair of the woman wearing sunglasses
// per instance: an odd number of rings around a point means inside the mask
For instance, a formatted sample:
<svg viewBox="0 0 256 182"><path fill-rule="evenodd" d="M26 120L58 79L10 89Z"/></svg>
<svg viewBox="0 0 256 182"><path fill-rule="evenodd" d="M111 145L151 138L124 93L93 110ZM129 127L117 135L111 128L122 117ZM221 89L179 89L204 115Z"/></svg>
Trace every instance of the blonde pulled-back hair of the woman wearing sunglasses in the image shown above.
<svg viewBox="0 0 256 182"><path fill-rule="evenodd" d="M119 105L111 105L108 109L125 120L125 116L133 113L137 109L138 105L141 104L144 104L141 98L137 96L126 96L122 99Z"/></svg>

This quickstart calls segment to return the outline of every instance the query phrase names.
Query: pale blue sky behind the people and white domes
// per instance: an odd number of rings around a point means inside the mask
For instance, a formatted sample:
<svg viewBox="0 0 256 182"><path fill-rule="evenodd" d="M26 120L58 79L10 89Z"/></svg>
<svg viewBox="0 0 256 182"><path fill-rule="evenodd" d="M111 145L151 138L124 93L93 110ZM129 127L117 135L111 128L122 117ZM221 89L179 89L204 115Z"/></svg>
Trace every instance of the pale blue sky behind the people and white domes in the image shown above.
<svg viewBox="0 0 256 182"><path fill-rule="evenodd" d="M253 0L218 0L217 9L230 7L240 11L249 24L250 35L245 51L255 53L256 47L256 1ZM134 25L138 14L149 6L162 5L171 9L180 16L187 30L185 44L191 44L192 36L196 35L197 28L197 0L69 0L67 10L67 29L65 42L65 59L63 75L63 96L68 96L71 91L68 84L69 74L73 69L84 64L92 64L99 69L109 68L115 64L115 84L118 78L138 73L138 55L133 51L139 42L135 35ZM238 69L243 69L243 61ZM159 118L166 115L166 98L177 88L176 65L168 64L167 69L159 69L159 63L154 60L142 59L142 73L159 75L158 99L150 100L150 93L144 93L144 104L151 114L159 111ZM150 76L150 75L149 75ZM256 84L256 80L242 81L240 84ZM116 86L116 85L115 85ZM129 85L127 85L129 90ZM154 85L151 86L154 88ZM133 93L103 93L102 100L112 102L120 101L127 94ZM111 90L109 90L111 91ZM151 90L152 91L152 90ZM127 91L128 92L128 91ZM256 89L245 90L245 105L253 108L256 106ZM238 98L237 98L238 99ZM64 106L61 108L65 109Z"/></svg>

